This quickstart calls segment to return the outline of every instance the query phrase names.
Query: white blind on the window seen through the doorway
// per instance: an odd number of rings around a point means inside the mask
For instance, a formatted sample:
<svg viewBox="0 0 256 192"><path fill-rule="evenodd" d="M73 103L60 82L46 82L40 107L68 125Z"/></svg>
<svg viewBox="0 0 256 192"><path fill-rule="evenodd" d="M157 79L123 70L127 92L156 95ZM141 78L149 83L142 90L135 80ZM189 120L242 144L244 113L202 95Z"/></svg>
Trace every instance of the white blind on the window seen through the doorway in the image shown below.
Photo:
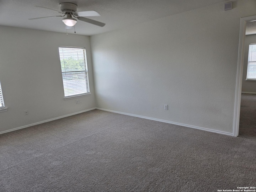
<svg viewBox="0 0 256 192"><path fill-rule="evenodd" d="M256 44L249 45L247 80L256 80Z"/></svg>

